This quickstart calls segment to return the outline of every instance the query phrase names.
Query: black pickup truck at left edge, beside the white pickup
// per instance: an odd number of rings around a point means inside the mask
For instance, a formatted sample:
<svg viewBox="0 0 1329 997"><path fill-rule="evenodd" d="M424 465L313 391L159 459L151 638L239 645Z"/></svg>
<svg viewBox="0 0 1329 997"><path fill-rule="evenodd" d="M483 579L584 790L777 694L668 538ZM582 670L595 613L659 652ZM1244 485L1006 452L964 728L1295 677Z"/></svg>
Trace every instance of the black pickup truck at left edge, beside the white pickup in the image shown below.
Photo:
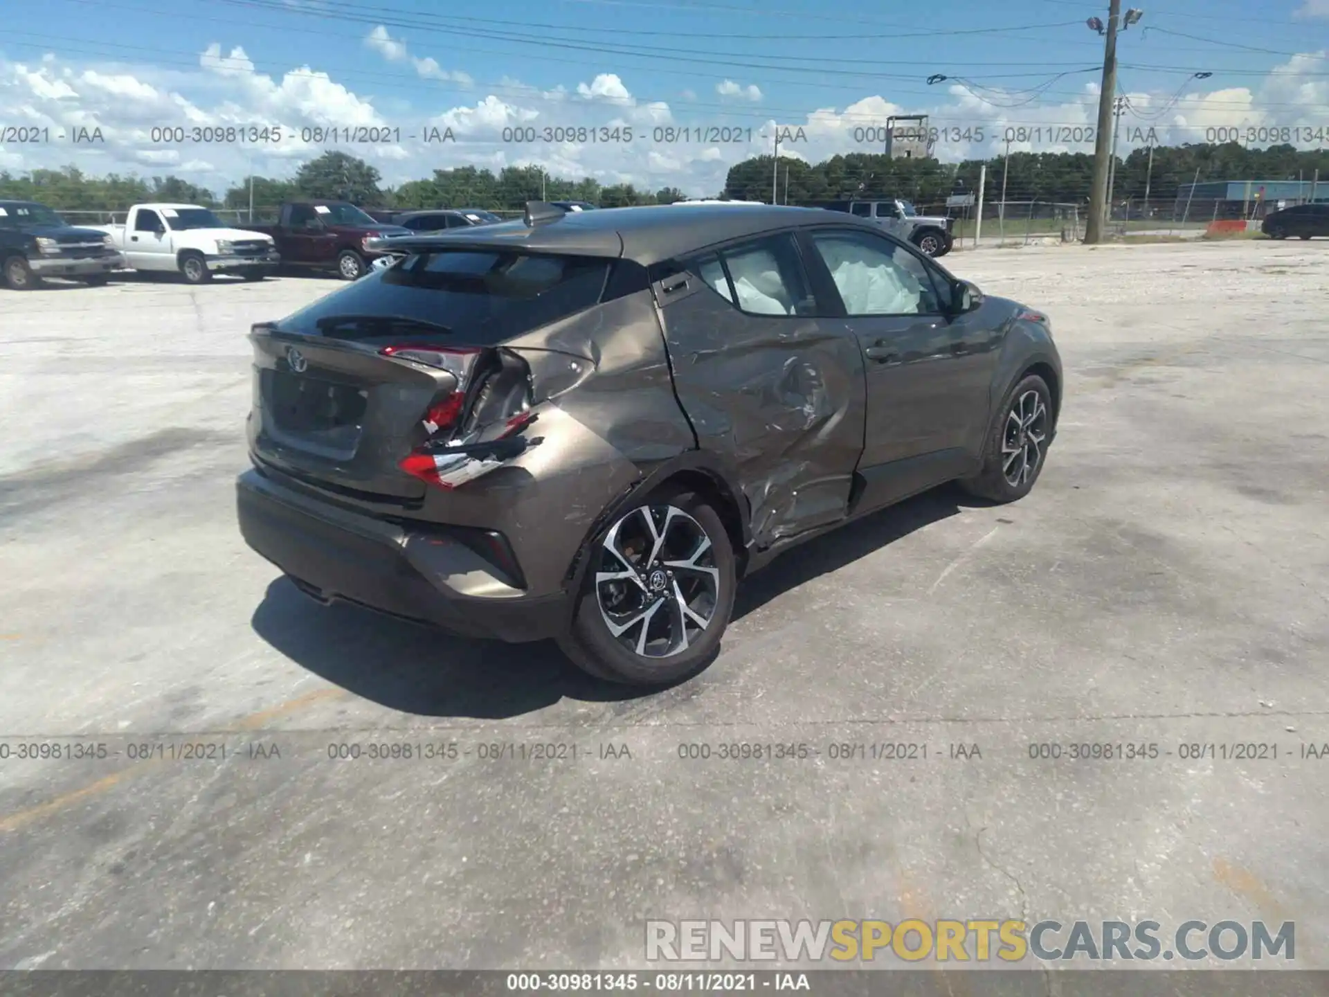
<svg viewBox="0 0 1329 997"><path fill-rule="evenodd" d="M45 277L104 284L124 266L106 233L66 225L35 201L0 201L0 282L11 290L40 287Z"/></svg>

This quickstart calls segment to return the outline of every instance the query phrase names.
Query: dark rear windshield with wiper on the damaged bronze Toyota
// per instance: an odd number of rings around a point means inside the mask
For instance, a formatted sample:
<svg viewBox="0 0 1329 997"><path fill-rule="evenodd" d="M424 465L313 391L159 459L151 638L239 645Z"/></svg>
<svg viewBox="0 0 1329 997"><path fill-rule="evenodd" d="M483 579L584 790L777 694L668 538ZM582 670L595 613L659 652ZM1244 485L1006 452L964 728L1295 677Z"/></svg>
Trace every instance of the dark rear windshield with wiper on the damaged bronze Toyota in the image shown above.
<svg viewBox="0 0 1329 997"><path fill-rule="evenodd" d="M399 315L444 324L459 344L492 346L595 304L610 262L513 251L424 253L347 284L278 324L316 335L318 320L332 315ZM355 335L354 327L348 335Z"/></svg>

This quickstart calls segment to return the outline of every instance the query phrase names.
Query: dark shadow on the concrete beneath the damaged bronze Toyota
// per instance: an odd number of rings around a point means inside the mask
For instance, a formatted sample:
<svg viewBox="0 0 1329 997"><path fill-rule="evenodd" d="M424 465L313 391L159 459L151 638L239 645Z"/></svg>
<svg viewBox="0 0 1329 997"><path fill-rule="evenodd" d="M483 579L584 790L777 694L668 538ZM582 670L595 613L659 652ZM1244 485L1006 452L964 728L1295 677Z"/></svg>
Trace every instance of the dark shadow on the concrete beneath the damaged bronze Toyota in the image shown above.
<svg viewBox="0 0 1329 997"><path fill-rule="evenodd" d="M797 548L797 557L777 558L744 581L734 618L964 506L981 504L953 487L940 488L812 540ZM328 682L420 717L505 719L560 699L610 703L661 691L594 679L552 641L473 641L358 606L322 606L286 578L268 585L251 626L275 650Z"/></svg>

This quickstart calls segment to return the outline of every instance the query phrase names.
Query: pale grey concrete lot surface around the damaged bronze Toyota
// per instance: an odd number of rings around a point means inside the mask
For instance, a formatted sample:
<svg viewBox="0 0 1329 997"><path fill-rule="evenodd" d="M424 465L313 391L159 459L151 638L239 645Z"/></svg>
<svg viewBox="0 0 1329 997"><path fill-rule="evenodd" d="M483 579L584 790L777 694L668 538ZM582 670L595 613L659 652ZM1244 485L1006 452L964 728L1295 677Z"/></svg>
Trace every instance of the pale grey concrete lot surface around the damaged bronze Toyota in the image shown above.
<svg viewBox="0 0 1329 997"><path fill-rule="evenodd" d="M909 916L1292 920L1329 968L1329 243L946 262L1051 315L1033 495L801 548L653 695L242 544L245 334L335 282L0 296L0 968L627 968L646 919ZM1158 748L1030 756L1087 743Z"/></svg>

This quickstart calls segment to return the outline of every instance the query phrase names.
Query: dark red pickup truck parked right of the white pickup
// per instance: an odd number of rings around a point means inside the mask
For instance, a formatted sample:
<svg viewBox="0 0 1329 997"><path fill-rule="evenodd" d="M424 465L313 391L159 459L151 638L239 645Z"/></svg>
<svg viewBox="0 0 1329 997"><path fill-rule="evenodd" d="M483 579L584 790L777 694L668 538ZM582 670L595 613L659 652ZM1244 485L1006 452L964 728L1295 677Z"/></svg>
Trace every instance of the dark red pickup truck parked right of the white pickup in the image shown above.
<svg viewBox="0 0 1329 997"><path fill-rule="evenodd" d="M290 201L275 225L246 225L271 235L282 266L332 270L344 280L358 280L383 253L365 249L368 239L411 235L400 225L373 221L348 201Z"/></svg>

